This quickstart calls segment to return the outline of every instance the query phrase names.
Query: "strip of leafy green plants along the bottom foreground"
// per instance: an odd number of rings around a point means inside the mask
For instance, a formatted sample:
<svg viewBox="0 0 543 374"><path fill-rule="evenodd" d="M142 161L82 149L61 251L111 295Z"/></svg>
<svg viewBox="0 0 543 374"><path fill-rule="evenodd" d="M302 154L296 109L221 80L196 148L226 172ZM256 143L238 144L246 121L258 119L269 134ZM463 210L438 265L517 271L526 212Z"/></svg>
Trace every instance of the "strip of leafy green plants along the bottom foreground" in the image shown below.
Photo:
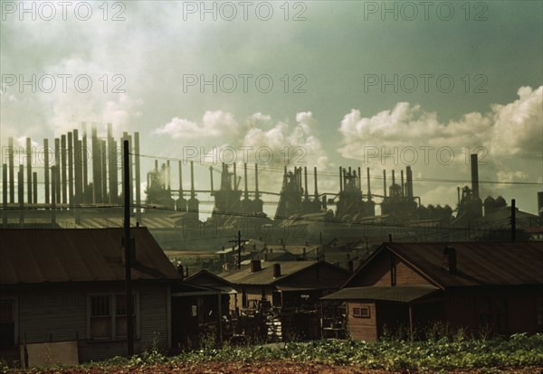
<svg viewBox="0 0 543 374"><path fill-rule="evenodd" d="M81 365L80 369L110 368L113 371L114 368L122 367L124 371L156 365L175 368L176 365L206 362L264 361L310 362L357 369L444 372L453 369L540 368L543 366L543 334L515 334L507 339L486 340L465 339L460 335L457 338L429 341L386 338L377 342L310 341L243 347L225 344L222 349L214 348L213 344L205 344L201 351L186 352L175 357L166 357L152 349L130 360L115 358Z"/></svg>

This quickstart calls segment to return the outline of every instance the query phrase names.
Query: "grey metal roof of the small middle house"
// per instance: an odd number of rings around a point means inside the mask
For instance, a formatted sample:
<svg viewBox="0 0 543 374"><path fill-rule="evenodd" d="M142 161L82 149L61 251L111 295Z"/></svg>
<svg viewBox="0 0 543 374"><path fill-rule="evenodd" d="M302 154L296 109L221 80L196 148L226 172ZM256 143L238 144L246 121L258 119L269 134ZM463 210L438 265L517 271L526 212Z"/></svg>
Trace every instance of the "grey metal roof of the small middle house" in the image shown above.
<svg viewBox="0 0 543 374"><path fill-rule="evenodd" d="M280 279L290 276L300 270L317 264L317 261L281 261L281 276L273 277L274 262L261 262L262 270L252 273L251 267L236 269L227 273L219 274L228 282L234 285L271 285Z"/></svg>

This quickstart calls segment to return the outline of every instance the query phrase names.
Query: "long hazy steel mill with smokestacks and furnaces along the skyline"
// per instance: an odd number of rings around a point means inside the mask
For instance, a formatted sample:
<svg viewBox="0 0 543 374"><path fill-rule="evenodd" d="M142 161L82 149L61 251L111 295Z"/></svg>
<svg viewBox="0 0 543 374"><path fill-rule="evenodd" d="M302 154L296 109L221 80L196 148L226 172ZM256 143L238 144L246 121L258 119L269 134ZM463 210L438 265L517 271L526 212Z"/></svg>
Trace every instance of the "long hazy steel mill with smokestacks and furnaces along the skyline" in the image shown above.
<svg viewBox="0 0 543 374"><path fill-rule="evenodd" d="M390 185L383 171L383 186L371 185L369 168L363 191L362 170L339 167L338 192L319 192L317 168L284 167L280 192L259 188L258 164L254 183L248 183L247 164L240 173L237 164L209 168L210 188L195 187L194 164L178 161L158 164L147 173L146 198L141 196L142 176L139 134L123 133L116 140L108 124L105 138L96 125L83 123L52 143L43 139L37 152L32 139L15 148L8 139L2 165L3 228L108 228L122 226L123 186L129 183L133 226L146 226L162 248L216 248L238 232L244 239L268 243L323 244L332 238L364 238L378 245L391 238L402 241L489 240L510 237L511 216L519 235L541 225L543 192L538 192L538 215L511 209L502 197L481 200L477 154L472 154L472 185L458 187L458 205L424 206L415 195L410 166L398 175L393 170ZM129 181L120 145L129 141ZM19 164L15 164L19 160ZM40 166L37 166L37 165ZM43 166L42 166L43 165ZM190 189L183 188L183 168L190 169ZM172 170L177 167L178 188L172 188ZM43 173L39 180L38 173ZM220 174L218 188L214 173ZM120 174L120 176L119 176ZM242 175L243 174L243 175ZM312 176L312 186L308 177ZM243 181L243 187L242 187ZM43 183L43 186L41 185ZM310 193L310 187L313 192ZM377 192L379 191L379 192ZM213 198L211 217L201 220L198 193ZM263 211L262 196L277 196L273 217ZM380 212L376 214L376 205ZM332 209L333 208L333 209ZM512 212L515 214L512 214ZM523 238L523 237L520 237ZM519 238L519 239L520 239ZM231 244L226 244L231 245Z"/></svg>

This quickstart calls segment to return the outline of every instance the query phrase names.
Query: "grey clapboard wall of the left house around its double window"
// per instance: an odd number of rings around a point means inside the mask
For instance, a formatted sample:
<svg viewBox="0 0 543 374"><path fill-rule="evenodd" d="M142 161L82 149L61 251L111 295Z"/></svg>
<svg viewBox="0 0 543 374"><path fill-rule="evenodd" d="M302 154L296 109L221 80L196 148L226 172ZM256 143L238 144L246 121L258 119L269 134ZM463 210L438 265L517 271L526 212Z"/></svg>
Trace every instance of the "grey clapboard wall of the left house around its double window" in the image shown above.
<svg viewBox="0 0 543 374"><path fill-rule="evenodd" d="M167 285L135 283L139 337L135 353L156 346L167 351ZM80 361L105 360L126 355L126 341L90 341L88 339L88 295L114 295L124 292L123 284L55 285L20 287L4 291L2 297L16 295L19 299L18 328L20 344L79 339ZM156 344L155 344L156 341ZM2 352L0 352L2 355Z"/></svg>

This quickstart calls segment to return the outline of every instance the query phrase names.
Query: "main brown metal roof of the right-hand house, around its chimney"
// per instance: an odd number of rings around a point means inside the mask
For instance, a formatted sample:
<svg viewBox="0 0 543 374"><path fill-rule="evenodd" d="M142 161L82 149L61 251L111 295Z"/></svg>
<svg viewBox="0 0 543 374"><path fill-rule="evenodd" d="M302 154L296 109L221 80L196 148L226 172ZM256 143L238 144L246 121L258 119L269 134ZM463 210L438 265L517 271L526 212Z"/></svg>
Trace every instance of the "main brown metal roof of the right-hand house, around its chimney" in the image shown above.
<svg viewBox="0 0 543 374"><path fill-rule="evenodd" d="M456 249L455 274L443 268L445 246ZM543 285L543 242L385 243L383 247L443 287Z"/></svg>

